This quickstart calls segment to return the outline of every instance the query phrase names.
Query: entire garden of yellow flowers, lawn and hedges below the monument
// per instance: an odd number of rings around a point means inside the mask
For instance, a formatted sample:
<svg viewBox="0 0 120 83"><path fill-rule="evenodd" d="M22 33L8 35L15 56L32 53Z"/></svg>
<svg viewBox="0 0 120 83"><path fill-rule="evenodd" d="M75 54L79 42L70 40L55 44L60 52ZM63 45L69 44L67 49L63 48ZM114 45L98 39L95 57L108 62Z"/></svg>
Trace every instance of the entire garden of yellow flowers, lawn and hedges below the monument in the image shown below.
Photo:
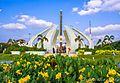
<svg viewBox="0 0 120 83"><path fill-rule="evenodd" d="M49 56L25 54L26 51L45 51L36 47L1 44L0 83L119 83L120 49L101 45L95 49L78 48L77 55ZM20 51L19 55L11 51ZM85 55L85 52L91 52Z"/></svg>

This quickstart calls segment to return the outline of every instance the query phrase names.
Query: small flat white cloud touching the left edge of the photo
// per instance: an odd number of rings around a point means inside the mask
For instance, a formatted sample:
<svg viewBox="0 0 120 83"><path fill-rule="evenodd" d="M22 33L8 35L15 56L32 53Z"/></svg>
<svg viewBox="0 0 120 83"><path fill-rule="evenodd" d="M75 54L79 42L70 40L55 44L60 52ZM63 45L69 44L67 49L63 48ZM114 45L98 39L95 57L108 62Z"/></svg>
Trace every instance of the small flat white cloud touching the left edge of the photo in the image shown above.
<svg viewBox="0 0 120 83"><path fill-rule="evenodd" d="M3 24L0 25L0 28L5 28L5 29L25 29L26 26L20 23L8 23L8 24Z"/></svg>

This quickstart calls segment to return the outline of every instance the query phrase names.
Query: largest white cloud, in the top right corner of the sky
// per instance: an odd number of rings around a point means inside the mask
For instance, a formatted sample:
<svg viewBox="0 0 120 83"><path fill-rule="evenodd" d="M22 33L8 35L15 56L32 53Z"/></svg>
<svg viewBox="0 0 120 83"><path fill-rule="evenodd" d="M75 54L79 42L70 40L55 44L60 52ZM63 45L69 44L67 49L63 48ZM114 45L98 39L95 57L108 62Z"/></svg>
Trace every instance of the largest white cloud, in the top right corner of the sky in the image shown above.
<svg viewBox="0 0 120 83"><path fill-rule="evenodd" d="M80 15L90 15L100 11L120 10L119 0L90 0L84 5L84 9L78 11Z"/></svg>

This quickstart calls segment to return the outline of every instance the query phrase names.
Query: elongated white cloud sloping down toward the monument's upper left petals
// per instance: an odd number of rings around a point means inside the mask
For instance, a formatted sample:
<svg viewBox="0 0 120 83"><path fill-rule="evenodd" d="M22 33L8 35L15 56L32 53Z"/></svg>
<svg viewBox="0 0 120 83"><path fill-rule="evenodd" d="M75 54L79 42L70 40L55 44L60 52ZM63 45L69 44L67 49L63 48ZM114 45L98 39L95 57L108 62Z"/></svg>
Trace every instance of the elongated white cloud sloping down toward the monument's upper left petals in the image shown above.
<svg viewBox="0 0 120 83"><path fill-rule="evenodd" d="M34 27L50 27L53 24L52 22L47 22L42 19L37 19L36 17L29 15L18 16L17 21L22 22L25 25L34 26Z"/></svg>

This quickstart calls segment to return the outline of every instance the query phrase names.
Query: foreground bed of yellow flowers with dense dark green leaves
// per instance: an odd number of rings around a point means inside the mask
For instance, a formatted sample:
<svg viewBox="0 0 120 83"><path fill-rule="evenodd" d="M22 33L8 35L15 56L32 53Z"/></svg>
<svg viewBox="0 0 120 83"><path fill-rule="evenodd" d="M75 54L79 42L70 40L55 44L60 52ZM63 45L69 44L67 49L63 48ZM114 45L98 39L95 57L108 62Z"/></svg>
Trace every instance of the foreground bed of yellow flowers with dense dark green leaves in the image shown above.
<svg viewBox="0 0 120 83"><path fill-rule="evenodd" d="M88 60L69 56L21 55L13 64L0 66L0 82L98 83L120 82L120 69L113 59Z"/></svg>

